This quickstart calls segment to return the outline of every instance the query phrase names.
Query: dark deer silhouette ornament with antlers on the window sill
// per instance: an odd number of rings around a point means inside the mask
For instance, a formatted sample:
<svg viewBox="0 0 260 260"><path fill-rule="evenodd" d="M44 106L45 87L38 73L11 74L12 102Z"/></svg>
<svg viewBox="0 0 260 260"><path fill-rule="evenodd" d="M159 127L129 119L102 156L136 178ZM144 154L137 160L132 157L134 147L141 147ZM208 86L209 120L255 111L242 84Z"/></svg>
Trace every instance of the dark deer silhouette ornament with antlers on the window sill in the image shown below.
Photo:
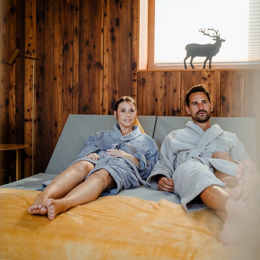
<svg viewBox="0 0 260 260"><path fill-rule="evenodd" d="M220 34L218 34L218 30L215 30L213 28L208 28L207 33L205 33L205 28L202 30L198 30L203 35L212 37L214 41L216 41L214 44L197 44L197 43L190 43L187 44L186 49L186 57L184 58L184 67L187 68L186 60L191 57L190 64L192 68L194 68L193 65L193 59L195 57L206 57L203 68L205 68L207 61L209 61L209 68L211 68L211 60L212 57L214 57L221 47L222 42L225 42L226 40L220 38ZM213 35L210 35L208 31L214 31Z"/></svg>

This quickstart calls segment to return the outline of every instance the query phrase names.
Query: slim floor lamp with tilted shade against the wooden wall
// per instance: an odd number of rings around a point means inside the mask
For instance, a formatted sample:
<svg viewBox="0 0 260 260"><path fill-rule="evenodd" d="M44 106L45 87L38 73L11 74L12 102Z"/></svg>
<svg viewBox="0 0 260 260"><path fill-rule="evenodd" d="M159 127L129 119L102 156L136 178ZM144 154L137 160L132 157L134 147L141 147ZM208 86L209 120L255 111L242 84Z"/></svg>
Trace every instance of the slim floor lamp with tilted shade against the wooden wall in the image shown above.
<svg viewBox="0 0 260 260"><path fill-rule="evenodd" d="M32 110L32 175L34 174L34 111L35 111L35 94L34 94L34 81L35 81L35 61L40 61L37 58L21 56L19 49L14 49L13 52L10 54L9 59L5 62L6 64L13 65L17 57L23 59L33 60L33 110Z"/></svg>

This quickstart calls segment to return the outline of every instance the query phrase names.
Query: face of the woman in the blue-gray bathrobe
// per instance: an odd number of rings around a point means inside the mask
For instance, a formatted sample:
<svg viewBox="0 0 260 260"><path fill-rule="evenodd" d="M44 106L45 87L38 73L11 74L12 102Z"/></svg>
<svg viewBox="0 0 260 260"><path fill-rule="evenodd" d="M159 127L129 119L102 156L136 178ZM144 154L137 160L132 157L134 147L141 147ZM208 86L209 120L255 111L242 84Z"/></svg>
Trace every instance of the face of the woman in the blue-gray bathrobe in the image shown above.
<svg viewBox="0 0 260 260"><path fill-rule="evenodd" d="M118 105L118 110L114 112L121 127L131 127L137 116L137 111L132 102L123 101Z"/></svg>

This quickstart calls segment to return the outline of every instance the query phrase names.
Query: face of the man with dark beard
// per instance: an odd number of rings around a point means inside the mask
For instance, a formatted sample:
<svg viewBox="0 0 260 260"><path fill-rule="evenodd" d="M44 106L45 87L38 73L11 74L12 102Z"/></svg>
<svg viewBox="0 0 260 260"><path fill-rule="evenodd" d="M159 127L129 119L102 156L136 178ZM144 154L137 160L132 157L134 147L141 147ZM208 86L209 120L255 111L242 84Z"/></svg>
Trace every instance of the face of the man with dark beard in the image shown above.
<svg viewBox="0 0 260 260"><path fill-rule="evenodd" d="M210 119L213 103L209 103L204 92L192 93L190 95L190 108L186 106L186 111L194 122L205 123Z"/></svg>

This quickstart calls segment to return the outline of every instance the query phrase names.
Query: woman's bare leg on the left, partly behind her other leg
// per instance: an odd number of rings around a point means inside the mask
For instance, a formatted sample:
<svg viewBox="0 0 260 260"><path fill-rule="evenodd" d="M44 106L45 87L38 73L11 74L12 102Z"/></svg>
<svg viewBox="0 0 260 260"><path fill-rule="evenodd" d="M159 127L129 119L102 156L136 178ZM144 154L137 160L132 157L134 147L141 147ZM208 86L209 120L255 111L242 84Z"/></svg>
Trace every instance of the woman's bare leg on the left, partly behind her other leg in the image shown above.
<svg viewBox="0 0 260 260"><path fill-rule="evenodd" d="M64 197L82 183L93 168L94 165L87 161L79 161L68 167L37 196L34 204L28 208L28 212L31 214L47 214L46 200Z"/></svg>

